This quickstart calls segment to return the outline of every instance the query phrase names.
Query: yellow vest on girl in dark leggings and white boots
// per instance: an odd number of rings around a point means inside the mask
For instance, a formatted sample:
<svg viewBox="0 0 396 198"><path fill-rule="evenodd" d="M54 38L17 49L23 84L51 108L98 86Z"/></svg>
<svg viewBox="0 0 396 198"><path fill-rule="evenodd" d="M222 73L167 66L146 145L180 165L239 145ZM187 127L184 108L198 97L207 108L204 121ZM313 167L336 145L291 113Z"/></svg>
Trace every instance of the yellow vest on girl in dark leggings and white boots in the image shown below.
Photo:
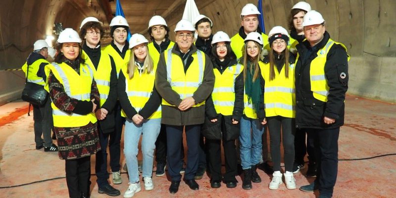
<svg viewBox="0 0 396 198"><path fill-rule="evenodd" d="M286 78L285 72L289 69L289 78ZM295 89L295 64L291 63L289 68L286 65L278 72L274 65L275 78L269 79L270 63L264 63L261 75L265 80L264 86L264 109L265 116L282 116L288 118L296 117L296 89Z"/></svg>

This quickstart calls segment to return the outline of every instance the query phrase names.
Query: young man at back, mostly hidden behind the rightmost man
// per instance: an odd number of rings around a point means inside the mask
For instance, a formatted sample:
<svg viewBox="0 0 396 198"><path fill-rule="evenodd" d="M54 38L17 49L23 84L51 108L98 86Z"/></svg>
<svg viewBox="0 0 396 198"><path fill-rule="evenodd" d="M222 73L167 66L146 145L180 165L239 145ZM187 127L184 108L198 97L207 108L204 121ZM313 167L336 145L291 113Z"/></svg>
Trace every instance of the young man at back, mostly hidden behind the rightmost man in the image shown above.
<svg viewBox="0 0 396 198"><path fill-rule="evenodd" d="M306 12L311 10L311 6L304 1L296 3L290 10L289 16L289 30L290 30L290 51L297 55L296 46L305 39L304 28L302 27L302 20ZM309 138L306 138L306 131L300 129L296 130L296 136L294 140L295 144L295 161L293 163L293 173L298 173L301 169L304 169L305 154L308 153L308 170L305 176L316 177L316 159L315 152L313 149L313 142L309 142ZM305 141L306 144L305 144Z"/></svg>

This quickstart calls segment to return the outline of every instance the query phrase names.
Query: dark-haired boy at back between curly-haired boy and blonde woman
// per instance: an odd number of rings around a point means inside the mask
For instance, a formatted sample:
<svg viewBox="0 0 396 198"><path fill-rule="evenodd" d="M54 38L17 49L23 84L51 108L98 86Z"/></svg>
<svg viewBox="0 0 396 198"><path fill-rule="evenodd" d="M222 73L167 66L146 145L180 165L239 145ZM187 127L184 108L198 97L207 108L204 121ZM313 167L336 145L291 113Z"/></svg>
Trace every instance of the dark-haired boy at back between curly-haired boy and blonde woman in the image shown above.
<svg viewBox="0 0 396 198"><path fill-rule="evenodd" d="M127 20L122 16L115 16L110 22L110 36L113 38L110 45L103 49L103 52L109 54L115 62L115 68L118 74L121 68L126 69L131 55L127 41L129 25ZM112 172L113 184L121 184L121 135L122 126L125 124L125 118L121 116L121 105L117 100L114 107L114 133L110 134L109 151L110 167Z"/></svg>

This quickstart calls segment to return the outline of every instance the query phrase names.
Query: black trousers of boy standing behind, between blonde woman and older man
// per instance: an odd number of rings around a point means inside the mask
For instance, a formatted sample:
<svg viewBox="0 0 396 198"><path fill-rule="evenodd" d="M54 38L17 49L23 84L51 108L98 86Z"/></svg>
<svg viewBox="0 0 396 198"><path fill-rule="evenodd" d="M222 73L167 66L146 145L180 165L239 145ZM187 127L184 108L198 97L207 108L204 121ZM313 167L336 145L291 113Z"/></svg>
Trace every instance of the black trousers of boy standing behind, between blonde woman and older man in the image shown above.
<svg viewBox="0 0 396 198"><path fill-rule="evenodd" d="M166 164L166 147L166 127L164 124L161 124L161 129L159 131L157 140L155 141L155 161L157 164ZM184 160L183 139L180 149L180 159Z"/></svg>

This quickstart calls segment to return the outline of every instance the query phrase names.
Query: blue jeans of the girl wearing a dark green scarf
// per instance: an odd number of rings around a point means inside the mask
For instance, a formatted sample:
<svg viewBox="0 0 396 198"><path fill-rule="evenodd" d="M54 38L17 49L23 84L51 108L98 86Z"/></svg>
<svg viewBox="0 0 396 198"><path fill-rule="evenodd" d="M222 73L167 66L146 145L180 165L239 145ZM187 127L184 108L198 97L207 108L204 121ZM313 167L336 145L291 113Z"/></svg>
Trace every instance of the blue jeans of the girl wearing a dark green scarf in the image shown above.
<svg viewBox="0 0 396 198"><path fill-rule="evenodd" d="M239 136L242 169L249 169L258 164L261 158L264 125L260 119L241 118L241 134Z"/></svg>

